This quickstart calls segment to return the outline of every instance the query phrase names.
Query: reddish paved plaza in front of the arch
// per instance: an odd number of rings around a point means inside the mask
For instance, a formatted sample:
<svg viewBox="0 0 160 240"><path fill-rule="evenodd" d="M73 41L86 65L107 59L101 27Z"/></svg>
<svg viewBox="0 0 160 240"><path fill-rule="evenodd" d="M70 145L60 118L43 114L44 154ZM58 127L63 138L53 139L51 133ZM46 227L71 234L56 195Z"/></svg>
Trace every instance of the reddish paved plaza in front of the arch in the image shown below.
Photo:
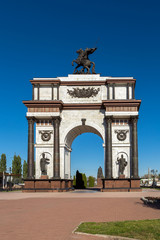
<svg viewBox="0 0 160 240"><path fill-rule="evenodd" d="M72 232L83 221L106 222L160 218L160 210L144 206L140 200L142 196L160 197L160 191L0 192L0 239L104 239Z"/></svg>

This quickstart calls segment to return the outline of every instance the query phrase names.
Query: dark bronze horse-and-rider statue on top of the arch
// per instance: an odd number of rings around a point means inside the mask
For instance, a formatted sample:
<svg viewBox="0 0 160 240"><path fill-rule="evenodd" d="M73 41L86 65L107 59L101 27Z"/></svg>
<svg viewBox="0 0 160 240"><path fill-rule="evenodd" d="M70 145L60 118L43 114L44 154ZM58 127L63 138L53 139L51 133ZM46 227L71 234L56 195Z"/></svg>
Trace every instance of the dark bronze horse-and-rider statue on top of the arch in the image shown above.
<svg viewBox="0 0 160 240"><path fill-rule="evenodd" d="M79 50L77 50L76 52L79 54L78 58L76 60L72 61L72 66L74 65L73 63L77 63L78 65L75 67L74 72L75 74L90 74L90 68L91 68L91 64L93 64L92 67L92 74L95 74L95 63L91 62L88 59L88 55L94 53L94 51L96 51L97 48L86 48L85 50L83 50L82 48L80 48ZM81 70L77 70L77 68L82 67ZM85 69L87 70L87 72L85 72Z"/></svg>

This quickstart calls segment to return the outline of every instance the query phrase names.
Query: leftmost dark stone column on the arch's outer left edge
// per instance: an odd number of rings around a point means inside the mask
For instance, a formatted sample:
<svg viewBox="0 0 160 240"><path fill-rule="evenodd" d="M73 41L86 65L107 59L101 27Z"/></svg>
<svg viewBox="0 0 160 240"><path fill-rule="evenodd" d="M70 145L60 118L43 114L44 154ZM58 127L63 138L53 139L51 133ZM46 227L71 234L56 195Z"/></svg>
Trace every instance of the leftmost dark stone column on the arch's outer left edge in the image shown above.
<svg viewBox="0 0 160 240"><path fill-rule="evenodd" d="M28 178L34 178L34 118L28 120Z"/></svg>

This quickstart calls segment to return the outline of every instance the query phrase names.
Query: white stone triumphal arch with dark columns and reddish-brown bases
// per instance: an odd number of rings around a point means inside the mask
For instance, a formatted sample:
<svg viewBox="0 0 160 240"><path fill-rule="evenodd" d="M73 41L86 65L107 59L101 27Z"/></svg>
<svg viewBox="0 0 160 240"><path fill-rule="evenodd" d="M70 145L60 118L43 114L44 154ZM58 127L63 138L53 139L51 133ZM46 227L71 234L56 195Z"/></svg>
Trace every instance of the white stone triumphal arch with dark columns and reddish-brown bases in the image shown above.
<svg viewBox="0 0 160 240"><path fill-rule="evenodd" d="M24 191L72 189L72 142L86 132L103 140L102 191L138 191L137 121L141 100L135 99L136 80L100 76L90 73L92 64L76 63L74 74L67 77L30 80L32 100L23 101L28 120Z"/></svg>

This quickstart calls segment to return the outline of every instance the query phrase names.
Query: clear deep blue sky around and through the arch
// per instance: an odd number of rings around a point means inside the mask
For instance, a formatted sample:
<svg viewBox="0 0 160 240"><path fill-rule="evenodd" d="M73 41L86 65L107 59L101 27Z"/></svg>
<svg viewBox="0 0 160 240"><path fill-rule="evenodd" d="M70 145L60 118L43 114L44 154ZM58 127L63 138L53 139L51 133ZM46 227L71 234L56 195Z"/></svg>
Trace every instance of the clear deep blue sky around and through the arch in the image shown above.
<svg viewBox="0 0 160 240"><path fill-rule="evenodd" d="M29 80L67 76L73 72L75 51L94 47L99 39L92 56L96 72L137 79L136 98L142 99L138 123L140 175L147 173L148 167L160 172L159 12L158 0L1 1L0 154L6 153L8 167L15 153L27 159L22 100L31 99ZM86 146L83 152L79 149L82 144ZM79 168L87 175L96 175L95 169L103 164L101 139L82 134L72 148L72 170Z"/></svg>

